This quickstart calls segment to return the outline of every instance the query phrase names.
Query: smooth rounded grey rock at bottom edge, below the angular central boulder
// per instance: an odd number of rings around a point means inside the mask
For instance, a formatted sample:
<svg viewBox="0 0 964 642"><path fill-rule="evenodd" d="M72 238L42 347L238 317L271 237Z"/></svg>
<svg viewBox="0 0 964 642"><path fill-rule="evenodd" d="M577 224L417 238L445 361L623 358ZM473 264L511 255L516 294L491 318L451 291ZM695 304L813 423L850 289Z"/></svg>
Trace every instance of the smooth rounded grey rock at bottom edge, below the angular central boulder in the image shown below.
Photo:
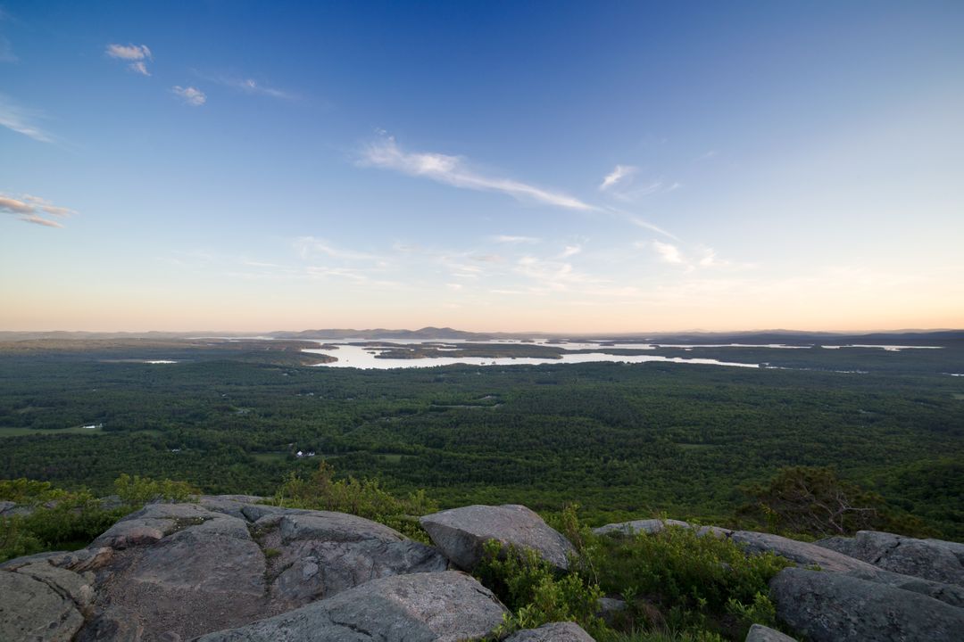
<svg viewBox="0 0 964 642"><path fill-rule="evenodd" d="M487 588L463 573L419 573L373 579L198 642L456 642L485 636L506 612Z"/></svg>

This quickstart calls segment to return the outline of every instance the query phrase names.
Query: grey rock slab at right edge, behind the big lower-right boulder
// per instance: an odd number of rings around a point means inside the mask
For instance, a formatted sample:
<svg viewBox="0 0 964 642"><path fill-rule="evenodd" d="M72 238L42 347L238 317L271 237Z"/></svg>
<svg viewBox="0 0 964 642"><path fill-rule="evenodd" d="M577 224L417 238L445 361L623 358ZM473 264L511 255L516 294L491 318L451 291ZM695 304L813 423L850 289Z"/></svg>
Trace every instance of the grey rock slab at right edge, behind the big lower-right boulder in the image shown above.
<svg viewBox="0 0 964 642"><path fill-rule="evenodd" d="M860 530L854 537L820 540L817 546L842 552L894 573L964 586L964 564L955 554L953 542Z"/></svg>

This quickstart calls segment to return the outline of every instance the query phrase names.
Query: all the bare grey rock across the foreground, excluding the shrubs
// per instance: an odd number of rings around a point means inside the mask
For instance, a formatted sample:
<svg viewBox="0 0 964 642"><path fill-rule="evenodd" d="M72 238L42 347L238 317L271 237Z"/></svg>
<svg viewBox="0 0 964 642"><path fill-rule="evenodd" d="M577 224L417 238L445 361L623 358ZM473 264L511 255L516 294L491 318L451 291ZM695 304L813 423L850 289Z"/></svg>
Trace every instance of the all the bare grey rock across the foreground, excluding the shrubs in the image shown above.
<svg viewBox="0 0 964 642"><path fill-rule="evenodd" d="M451 565L474 567L496 540L556 569L572 545L519 505L468 506L422 518L437 546L361 517L283 508L251 496L151 504L87 549L0 564L0 640L208 642L308 639L461 640L489 635L505 608ZM15 507L14 507L15 508ZM964 545L862 531L817 544L752 531L639 520L612 536L698 528L801 567L770 585L794 634L823 640L951 640L964 630ZM642 536L642 535L640 535ZM872 563L871 563L872 562ZM897 572L899 570L900 572ZM912 575L908 575L912 574ZM627 604L604 598L619 622ZM586 642L572 623L514 633L509 642ZM786 642L754 627L751 642Z"/></svg>

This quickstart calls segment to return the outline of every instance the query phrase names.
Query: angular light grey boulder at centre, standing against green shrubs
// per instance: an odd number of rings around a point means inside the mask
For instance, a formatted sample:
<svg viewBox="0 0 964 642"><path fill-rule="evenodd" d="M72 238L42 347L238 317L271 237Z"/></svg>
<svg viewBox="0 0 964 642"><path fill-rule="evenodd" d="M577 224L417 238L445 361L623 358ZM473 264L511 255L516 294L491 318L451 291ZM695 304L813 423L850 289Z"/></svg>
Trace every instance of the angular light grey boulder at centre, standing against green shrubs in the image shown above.
<svg viewBox="0 0 964 642"><path fill-rule="evenodd" d="M518 504L453 508L426 515L420 522L442 553L467 571L482 559L483 545L490 540L532 550L561 570L569 568L567 554L576 552L560 532Z"/></svg>

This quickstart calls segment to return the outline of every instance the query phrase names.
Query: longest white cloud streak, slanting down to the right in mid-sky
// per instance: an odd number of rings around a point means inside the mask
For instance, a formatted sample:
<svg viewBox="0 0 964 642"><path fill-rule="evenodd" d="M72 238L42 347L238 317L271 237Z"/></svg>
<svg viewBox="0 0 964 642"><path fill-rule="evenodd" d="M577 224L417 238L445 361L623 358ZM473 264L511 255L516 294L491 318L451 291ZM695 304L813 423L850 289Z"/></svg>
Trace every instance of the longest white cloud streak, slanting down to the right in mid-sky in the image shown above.
<svg viewBox="0 0 964 642"><path fill-rule="evenodd" d="M571 210L595 211L599 208L566 193L552 192L511 178L487 176L468 166L460 156L436 152L406 152L392 137L384 137L362 150L360 164L394 169L411 176L429 178L466 190L498 192Z"/></svg>

